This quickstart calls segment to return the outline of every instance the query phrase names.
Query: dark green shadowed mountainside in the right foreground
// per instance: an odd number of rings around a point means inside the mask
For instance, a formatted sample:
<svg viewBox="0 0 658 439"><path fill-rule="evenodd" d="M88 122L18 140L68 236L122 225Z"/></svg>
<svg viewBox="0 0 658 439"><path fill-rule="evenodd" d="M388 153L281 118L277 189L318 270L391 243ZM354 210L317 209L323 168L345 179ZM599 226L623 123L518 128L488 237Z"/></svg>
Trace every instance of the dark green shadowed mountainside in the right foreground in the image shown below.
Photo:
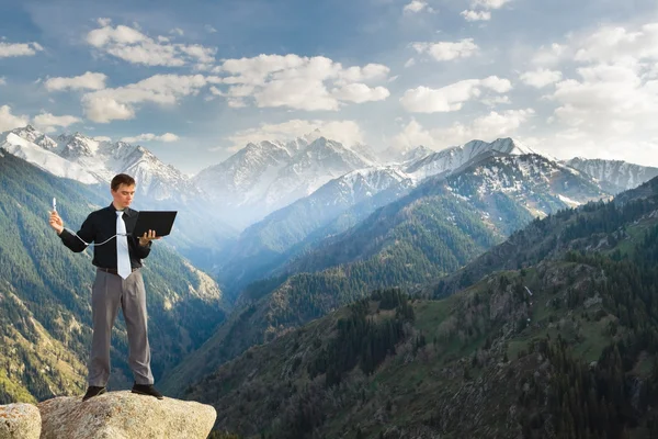
<svg viewBox="0 0 658 439"><path fill-rule="evenodd" d="M561 250L499 269L499 250L531 250L540 235ZM492 251L485 277L446 299L376 291L184 397L245 437L654 437L658 179L537 219Z"/></svg>

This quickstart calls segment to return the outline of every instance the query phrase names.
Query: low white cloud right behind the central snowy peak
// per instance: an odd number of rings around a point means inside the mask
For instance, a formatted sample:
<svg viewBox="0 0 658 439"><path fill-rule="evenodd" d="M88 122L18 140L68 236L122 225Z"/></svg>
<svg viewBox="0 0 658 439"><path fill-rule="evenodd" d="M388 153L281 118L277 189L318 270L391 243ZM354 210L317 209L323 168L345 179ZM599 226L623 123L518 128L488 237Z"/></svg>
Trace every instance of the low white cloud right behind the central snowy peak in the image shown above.
<svg viewBox="0 0 658 439"><path fill-rule="evenodd" d="M282 142L302 137L318 130L322 136L345 146L363 143L363 132L354 121L291 120L280 124L263 123L256 128L243 130L227 137L229 150L243 148L248 143L279 139ZM216 148L220 149L220 148Z"/></svg>

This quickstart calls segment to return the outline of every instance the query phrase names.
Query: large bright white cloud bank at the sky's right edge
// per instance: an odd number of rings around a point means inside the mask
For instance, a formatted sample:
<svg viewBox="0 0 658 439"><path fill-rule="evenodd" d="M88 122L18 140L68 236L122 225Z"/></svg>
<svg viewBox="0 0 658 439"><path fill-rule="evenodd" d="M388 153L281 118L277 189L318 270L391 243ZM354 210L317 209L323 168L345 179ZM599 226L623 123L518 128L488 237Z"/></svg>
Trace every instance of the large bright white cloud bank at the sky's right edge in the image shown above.
<svg viewBox="0 0 658 439"><path fill-rule="evenodd" d="M625 155L635 157L636 162L655 164L658 144L650 139L658 138L658 80L654 75L658 23L603 25L570 34L565 44L554 44L552 52L556 56L548 59L575 71L544 97L556 104L548 119L557 133L552 140L554 154Z"/></svg>

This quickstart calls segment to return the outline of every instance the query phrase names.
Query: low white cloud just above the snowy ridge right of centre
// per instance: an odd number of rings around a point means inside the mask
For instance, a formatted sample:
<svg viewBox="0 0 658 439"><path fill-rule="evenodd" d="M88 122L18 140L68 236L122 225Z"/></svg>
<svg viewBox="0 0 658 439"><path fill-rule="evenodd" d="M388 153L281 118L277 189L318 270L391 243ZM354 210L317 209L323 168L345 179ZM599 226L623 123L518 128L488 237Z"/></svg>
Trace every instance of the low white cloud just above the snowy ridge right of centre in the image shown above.
<svg viewBox="0 0 658 439"><path fill-rule="evenodd" d="M475 119L469 124L454 123L446 128L426 130L411 120L393 139L398 148L424 145L433 149L443 149L462 145L473 139L492 142L499 137L515 136L523 123L534 115L534 110L507 110L501 113L491 111Z"/></svg>

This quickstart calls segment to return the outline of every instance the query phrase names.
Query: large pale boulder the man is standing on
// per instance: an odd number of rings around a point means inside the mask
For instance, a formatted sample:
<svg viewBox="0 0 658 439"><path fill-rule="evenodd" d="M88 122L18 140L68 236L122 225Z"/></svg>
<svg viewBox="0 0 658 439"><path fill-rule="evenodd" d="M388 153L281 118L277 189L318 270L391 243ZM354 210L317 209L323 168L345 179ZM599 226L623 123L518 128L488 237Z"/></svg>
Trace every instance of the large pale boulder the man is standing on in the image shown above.
<svg viewBox="0 0 658 439"><path fill-rule="evenodd" d="M207 438L217 413L195 402L110 392L82 402L63 396L38 405L42 439Z"/></svg>

